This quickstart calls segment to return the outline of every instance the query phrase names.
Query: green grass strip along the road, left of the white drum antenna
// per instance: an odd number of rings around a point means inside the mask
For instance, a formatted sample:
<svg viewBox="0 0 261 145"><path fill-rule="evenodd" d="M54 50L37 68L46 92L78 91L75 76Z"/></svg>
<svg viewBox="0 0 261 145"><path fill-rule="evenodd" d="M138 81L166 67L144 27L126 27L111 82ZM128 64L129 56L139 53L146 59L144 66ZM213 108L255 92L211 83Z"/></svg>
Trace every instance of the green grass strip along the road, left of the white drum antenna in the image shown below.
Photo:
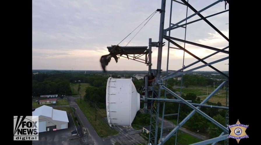
<svg viewBox="0 0 261 145"><path fill-rule="evenodd" d="M80 109L82 110L82 112L84 113L84 115L86 116L86 118L91 123L91 126L94 128L94 130L100 137L108 137L110 135L118 134L118 131L114 131L110 128L108 123L105 122L105 118L103 118L103 116L101 116L100 113L98 113L98 111L96 113L97 116L95 116L94 107L90 106L85 101L82 101L82 103L80 103L80 98L76 99L75 101L78 104L78 106L80 107ZM103 114L106 117L105 110L104 110Z"/></svg>

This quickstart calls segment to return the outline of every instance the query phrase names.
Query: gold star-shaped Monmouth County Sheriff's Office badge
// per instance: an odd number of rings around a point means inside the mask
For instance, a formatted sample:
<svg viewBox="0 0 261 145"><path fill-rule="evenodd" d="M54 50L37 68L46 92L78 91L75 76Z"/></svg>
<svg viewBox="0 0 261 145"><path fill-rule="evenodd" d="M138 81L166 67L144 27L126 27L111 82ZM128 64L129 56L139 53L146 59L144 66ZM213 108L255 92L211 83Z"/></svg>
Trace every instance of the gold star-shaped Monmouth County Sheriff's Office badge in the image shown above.
<svg viewBox="0 0 261 145"><path fill-rule="evenodd" d="M242 138L248 138L248 135L245 132L246 128L248 128L248 125L240 124L240 122L237 120L236 124L228 125L228 128L231 131L228 137L236 139L237 143L239 143L240 139Z"/></svg>

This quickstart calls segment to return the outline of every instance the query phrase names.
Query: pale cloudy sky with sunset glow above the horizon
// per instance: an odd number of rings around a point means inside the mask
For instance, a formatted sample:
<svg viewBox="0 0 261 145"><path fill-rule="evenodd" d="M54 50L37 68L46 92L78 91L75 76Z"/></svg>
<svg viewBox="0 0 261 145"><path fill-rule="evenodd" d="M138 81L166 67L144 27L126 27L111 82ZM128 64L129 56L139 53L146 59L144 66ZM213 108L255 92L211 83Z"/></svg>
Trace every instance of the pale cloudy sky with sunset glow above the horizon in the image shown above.
<svg viewBox="0 0 261 145"><path fill-rule="evenodd" d="M216 0L189 1L197 11L214 2ZM170 0L166 0L164 29L168 28L170 23L170 3ZM157 9L161 9L161 0L33 0L32 69L102 70L100 57L109 54L107 46L149 46L149 38L152 42L159 41L161 13L155 13ZM229 4L226 6L226 10L228 9ZM186 6L173 2L171 23L185 19L186 10ZM224 10L223 1L200 14L206 17ZM194 12L188 8L187 16L192 14ZM196 19L200 17L193 16L187 22ZM229 38L228 12L209 17L207 20ZM218 49L229 46L227 40L202 20L187 25L186 29L171 30L170 36L179 39L185 39L186 36L187 41ZM162 49L161 69L166 70L168 41L163 39L163 42L166 43ZM174 42L184 47L184 43ZM173 44L170 46L177 47ZM215 52L189 44L186 44L185 48L199 58ZM183 64L186 66L197 61L183 50L170 49L169 53L168 70L178 70ZM210 63L228 56L219 52L204 61ZM152 69L157 69L157 59L158 48L152 47ZM212 66L221 71L228 71L228 64L229 59L226 59ZM202 62L197 63L184 71L201 65ZM112 59L106 70L148 70L148 66L120 57L117 63ZM214 70L204 67L197 71Z"/></svg>

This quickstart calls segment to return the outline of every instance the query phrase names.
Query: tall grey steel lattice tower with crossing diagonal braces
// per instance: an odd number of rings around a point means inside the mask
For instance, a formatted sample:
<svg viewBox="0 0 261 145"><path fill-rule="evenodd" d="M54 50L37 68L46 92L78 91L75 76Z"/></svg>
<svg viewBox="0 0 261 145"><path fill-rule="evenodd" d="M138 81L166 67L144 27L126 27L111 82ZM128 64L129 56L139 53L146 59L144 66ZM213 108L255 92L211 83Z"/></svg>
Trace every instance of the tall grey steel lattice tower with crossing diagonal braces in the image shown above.
<svg viewBox="0 0 261 145"><path fill-rule="evenodd" d="M172 2L177 2L178 4L181 4L181 5L185 5L187 10L188 8L190 10L192 10L194 13L189 15L188 16L188 13L186 15L186 17L177 22L177 23L171 23L171 15L172 15ZM216 14L212 14L212 15L209 15L209 16L203 16L201 13L204 12L204 10L207 10L207 9L211 9L212 6L215 6L216 4L218 3L225 3L225 10L224 11L221 11L221 12L218 12ZM161 13L161 18L160 18L160 31L159 31L159 41L158 42L151 42L151 39L149 40L149 50L151 51L151 47L158 47L158 59L157 59L157 69L156 70L151 70L151 66L149 65L149 73L155 73L156 74L156 80L155 80L155 88L152 87L152 88L149 88L147 86L147 84L145 84L145 87L147 87L148 89L147 90L156 90L157 93L158 93L158 96L161 96L161 91L160 90L165 90L165 93L164 93L164 99L159 99L159 98L149 98L151 100L155 100L156 101L156 105L155 105L155 108L151 106L151 110L150 110L150 113L151 113L151 122L150 122L150 132L149 132L149 143L148 144L158 144L158 145L161 145L161 144L164 144L172 135L176 135L177 137L177 131L178 129L185 124L186 121L188 121L188 119L190 119L192 117L192 115L194 113L199 113L200 115L204 116L206 119L208 119L209 121L211 121L212 123L214 123L216 126L218 126L219 128L221 128L223 130L223 132L218 136L218 137L215 137L215 138L212 138L212 139L208 139L208 140L205 140L205 141L202 141L202 142L198 142L198 143L195 143L195 144L199 144L199 145L202 145L202 144L210 144L210 143L217 143L219 141L222 141L222 140L225 140L225 144L228 144L228 128L226 128L226 125L228 125L228 76L226 74L224 74L223 72L221 72L220 70L218 70L217 68L213 67L212 65L213 64L216 64L218 62L221 62L221 61L224 61L224 60L227 60L228 59L228 56L227 57L224 57L222 59L218 59L218 60L215 60L215 61L212 61L210 63L204 61L205 59L211 57L211 56L214 56L216 55L217 53L225 53L227 55L229 55L229 52L228 52L228 48L229 48L229 45L227 46L222 46L223 49L218 49L218 48L214 48L214 47L211 47L211 46L207 46L207 45L203 45L203 44L198 44L198 43L195 43L195 42L191 42L191 41L186 41L186 27L187 25L189 24L192 24L192 23L195 23L197 21L204 21L206 22L211 28L213 28L221 37L223 37L223 39L227 40L229 42L229 39L227 36L225 36L220 30L218 30L218 28L216 28L210 21L207 20L207 18L209 17L213 17L213 16L216 16L218 14L223 14L223 13L226 13L228 12L227 8L227 4L229 3L229 0L218 0L218 1L215 1L214 3L212 3L211 5L205 7L205 8L202 8L201 10L197 11L190 3L188 3L188 1L186 0L180 0L180 1L176 1L176 0L171 0L171 4L170 4L170 24L169 24L169 27L164 29L164 21L165 21L165 7L166 7L166 0L162 0L161 2L161 9L159 10L160 13ZM196 19L196 20L191 20L191 18L193 16L199 16L200 19ZM187 22L187 20L191 20L190 22ZM171 37L170 36L170 31L171 30L174 30L174 29L177 29L177 28L185 28L185 38L184 39L179 39L179 38L175 38L175 37ZM168 36L167 36L167 32L168 32ZM163 42L163 39L167 40L168 41L168 54L167 54L167 69L166 69L166 75L161 77L161 75L163 75L161 73L161 63L162 63L162 50L163 50L163 46L165 45ZM184 47L179 45L178 43L184 43ZM156 45L155 45L156 44ZM173 44L175 45L175 47L171 47L170 44ZM206 48L206 49L210 49L210 50L214 50L215 52L212 53L211 55L208 55L204 58L200 58L200 57L197 57L196 55L194 55L192 52L188 51L186 48L185 48L185 44L190 44L190 45L193 45L193 46L197 46L197 47L202 47L202 48ZM178 70L168 70L168 64L169 64L169 50L170 48L174 48L174 49L179 49L179 50L183 50L184 52L188 53L189 55L191 55L192 57L196 58L197 61L193 62L192 64L189 64L189 65L186 65L184 66L184 64L182 65L182 67ZM151 57L151 55L150 55ZM151 60L151 58L149 57L149 59ZM183 58L184 59L184 58ZM149 61L151 63L151 61ZM184 61L183 61L184 62ZM192 68L192 66L195 66L195 64L198 64L199 62L203 63L203 65L201 66L197 66L195 68ZM200 68L203 68L203 67L210 67L212 68L213 70L215 70L216 72L218 72L220 75L224 76L226 78L226 81L223 81L219 86L217 86L216 88L214 88L214 91L212 93L210 93L206 99L204 99L200 104L195 104L195 103L190 103L189 100L184 100L180 95L177 95L176 93L172 92L169 88L167 88L167 79L170 79L170 78L173 78L173 77L177 77L177 76L183 76L183 74L185 73L188 73L188 72L191 72L191 71L194 71L194 70L198 70ZM186 69L186 71L185 71ZM168 71L172 71L172 73L168 73ZM145 77L145 82L147 78ZM163 83L163 81L165 81L165 83ZM221 106L211 106L211 107L214 107L214 108L222 108L222 109L227 109L226 110L226 117L225 117L225 124L220 124L218 123L216 120L214 120L213 118L209 117L207 114L205 114L204 112L202 112L200 110L200 107L204 106L204 107L210 107L209 105L205 105L205 103L219 90L221 89L222 87L224 87L224 89L226 88L226 107L221 107ZM181 84L181 88L182 88L182 84ZM175 98L177 99L166 99L166 93L170 93L171 95L173 95ZM181 91L180 91L181 93ZM147 98L148 99L148 98ZM161 121L161 135L160 137L158 137L158 118L159 118L159 101L163 101L164 104L163 104L163 112L162 112L162 121ZM177 123L177 126L167 135L165 136L164 139L161 139L162 137L162 128L164 126L163 124L163 120L164 120L164 116L167 116L167 115L164 115L164 110L165 110L165 101L168 100L170 102L175 102L175 103L183 103L183 104L186 104L187 106L189 106L190 108L193 109L193 111L188 114L185 119L183 119L179 124ZM172 115L178 115L178 113L174 113ZM157 141L159 140L160 138L160 142L158 143ZM177 138L176 138L176 142L177 142Z"/></svg>

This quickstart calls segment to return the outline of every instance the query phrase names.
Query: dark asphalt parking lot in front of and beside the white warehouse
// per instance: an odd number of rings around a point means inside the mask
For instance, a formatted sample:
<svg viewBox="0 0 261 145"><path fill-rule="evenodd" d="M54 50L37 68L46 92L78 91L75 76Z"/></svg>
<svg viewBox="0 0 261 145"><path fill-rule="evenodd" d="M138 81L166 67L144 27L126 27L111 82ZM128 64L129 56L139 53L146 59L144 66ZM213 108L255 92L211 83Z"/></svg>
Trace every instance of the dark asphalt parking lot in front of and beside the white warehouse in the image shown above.
<svg viewBox="0 0 261 145"><path fill-rule="evenodd" d="M72 136L71 132L75 130L75 125L70 114L68 116L68 128L57 131L39 133L39 140L33 141L33 145L80 145L79 136Z"/></svg>

